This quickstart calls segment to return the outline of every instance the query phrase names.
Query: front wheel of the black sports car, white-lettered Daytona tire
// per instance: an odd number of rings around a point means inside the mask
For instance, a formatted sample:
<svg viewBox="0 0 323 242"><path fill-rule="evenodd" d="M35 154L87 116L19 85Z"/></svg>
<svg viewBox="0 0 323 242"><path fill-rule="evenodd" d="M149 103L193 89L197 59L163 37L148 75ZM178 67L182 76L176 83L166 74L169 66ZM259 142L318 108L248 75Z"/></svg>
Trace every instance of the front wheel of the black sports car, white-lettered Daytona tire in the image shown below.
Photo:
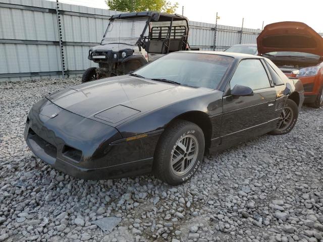
<svg viewBox="0 0 323 242"><path fill-rule="evenodd" d="M205 140L195 124L176 120L161 135L154 154L153 172L170 185L190 179L201 164Z"/></svg>

